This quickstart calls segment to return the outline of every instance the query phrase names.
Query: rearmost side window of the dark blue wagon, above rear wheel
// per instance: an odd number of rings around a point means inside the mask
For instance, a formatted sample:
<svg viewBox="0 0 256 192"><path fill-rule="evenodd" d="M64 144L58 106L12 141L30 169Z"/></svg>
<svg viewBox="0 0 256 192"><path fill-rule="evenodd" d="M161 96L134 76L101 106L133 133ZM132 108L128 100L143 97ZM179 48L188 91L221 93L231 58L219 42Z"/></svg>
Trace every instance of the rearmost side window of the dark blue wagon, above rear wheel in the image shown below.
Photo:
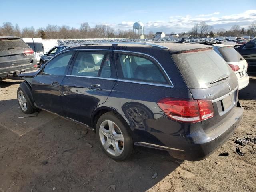
<svg viewBox="0 0 256 192"><path fill-rule="evenodd" d="M117 63L119 79L168 84L162 71L148 58L117 54Z"/></svg>

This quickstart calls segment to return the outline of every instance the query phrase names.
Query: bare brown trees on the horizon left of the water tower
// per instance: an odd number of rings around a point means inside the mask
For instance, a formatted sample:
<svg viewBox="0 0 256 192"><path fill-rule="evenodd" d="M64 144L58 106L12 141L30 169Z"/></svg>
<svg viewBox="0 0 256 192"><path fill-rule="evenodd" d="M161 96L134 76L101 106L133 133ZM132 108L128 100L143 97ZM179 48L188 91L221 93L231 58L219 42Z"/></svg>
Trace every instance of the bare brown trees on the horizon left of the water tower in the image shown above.
<svg viewBox="0 0 256 192"><path fill-rule="evenodd" d="M20 30L18 24L4 22L0 27L0 36L34 37L42 39L74 39L74 38L139 38L133 30L114 29L107 25L90 27L88 22L80 24L80 28L67 25L58 26L48 24L44 28L25 27Z"/></svg>

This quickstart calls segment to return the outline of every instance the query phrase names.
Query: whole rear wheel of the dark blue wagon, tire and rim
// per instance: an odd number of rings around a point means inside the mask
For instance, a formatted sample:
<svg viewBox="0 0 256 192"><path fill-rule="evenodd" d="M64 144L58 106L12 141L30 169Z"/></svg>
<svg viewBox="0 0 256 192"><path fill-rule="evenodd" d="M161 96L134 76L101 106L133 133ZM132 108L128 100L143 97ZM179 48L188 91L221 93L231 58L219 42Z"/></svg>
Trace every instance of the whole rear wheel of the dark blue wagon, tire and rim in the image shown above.
<svg viewBox="0 0 256 192"><path fill-rule="evenodd" d="M96 133L100 147L110 158L123 161L132 154L132 136L128 125L119 115L108 112L100 116Z"/></svg>

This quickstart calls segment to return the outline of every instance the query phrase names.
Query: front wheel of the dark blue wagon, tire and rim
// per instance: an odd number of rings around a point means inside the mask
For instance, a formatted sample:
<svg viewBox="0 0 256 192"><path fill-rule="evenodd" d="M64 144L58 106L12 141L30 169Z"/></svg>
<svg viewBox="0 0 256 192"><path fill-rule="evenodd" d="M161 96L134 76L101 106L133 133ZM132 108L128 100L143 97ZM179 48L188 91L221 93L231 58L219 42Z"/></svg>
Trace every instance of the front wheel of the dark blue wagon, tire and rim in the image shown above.
<svg viewBox="0 0 256 192"><path fill-rule="evenodd" d="M17 90L17 99L18 99L18 104L19 104L22 112L24 112L26 114L31 114L31 113L38 111L37 108L32 107L32 105L30 104L30 103L32 103L30 101L30 98L28 97L26 92L21 87L19 87Z"/></svg>

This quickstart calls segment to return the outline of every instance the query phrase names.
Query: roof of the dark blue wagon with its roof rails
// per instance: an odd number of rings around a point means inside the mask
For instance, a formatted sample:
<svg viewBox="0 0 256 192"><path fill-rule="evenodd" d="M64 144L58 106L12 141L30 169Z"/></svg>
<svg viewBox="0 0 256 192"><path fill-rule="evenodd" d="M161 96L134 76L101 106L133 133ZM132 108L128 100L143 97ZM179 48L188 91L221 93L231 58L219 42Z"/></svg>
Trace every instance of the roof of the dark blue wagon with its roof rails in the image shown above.
<svg viewBox="0 0 256 192"><path fill-rule="evenodd" d="M70 45L68 45L70 46ZM88 44L77 44L68 47L66 50L70 49L108 49L108 50L144 50L149 49L158 49L158 50L169 50L170 52L179 52L183 50L191 49L200 49L200 48L209 48L204 44L192 44L192 43L176 43L176 42L95 42Z"/></svg>

